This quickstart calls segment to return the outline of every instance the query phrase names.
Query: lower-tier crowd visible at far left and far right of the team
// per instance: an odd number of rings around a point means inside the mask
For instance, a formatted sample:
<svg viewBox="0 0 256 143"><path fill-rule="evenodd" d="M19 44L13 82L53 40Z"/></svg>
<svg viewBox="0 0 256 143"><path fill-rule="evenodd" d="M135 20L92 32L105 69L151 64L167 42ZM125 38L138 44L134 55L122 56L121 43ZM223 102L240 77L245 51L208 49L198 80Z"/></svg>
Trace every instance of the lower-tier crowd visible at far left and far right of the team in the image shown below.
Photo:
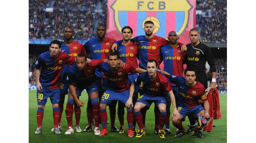
<svg viewBox="0 0 256 143"><path fill-rule="evenodd" d="M36 84L35 63L39 54L29 55L29 84ZM227 89L227 58L216 58L218 89Z"/></svg>

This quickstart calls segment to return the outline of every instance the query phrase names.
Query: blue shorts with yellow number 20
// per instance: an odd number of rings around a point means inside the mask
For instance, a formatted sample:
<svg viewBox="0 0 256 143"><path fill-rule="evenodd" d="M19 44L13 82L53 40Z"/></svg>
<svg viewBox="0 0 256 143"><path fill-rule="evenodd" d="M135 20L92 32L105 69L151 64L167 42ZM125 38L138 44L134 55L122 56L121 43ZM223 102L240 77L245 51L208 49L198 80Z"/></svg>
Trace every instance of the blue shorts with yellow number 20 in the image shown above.
<svg viewBox="0 0 256 143"><path fill-rule="evenodd" d="M115 100L121 101L125 104L129 99L129 92L130 90L128 89L120 92L106 89L101 97L100 104L112 104Z"/></svg>

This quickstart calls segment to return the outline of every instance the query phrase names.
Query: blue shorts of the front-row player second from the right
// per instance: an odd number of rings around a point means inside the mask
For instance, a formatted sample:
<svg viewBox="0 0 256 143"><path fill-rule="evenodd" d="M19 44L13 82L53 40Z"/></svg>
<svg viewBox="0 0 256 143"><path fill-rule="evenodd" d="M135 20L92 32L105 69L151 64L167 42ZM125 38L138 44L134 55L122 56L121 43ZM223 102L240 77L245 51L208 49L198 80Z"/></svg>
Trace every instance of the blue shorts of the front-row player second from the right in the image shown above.
<svg viewBox="0 0 256 143"><path fill-rule="evenodd" d="M164 103L166 104L166 99L164 96L157 96L157 97L152 97L152 96L148 96L146 94L141 94L140 97L137 99L136 103L140 102L140 103L144 103L148 106L148 108L150 107L150 105L154 102L155 106L158 106L158 104L160 103Z"/></svg>

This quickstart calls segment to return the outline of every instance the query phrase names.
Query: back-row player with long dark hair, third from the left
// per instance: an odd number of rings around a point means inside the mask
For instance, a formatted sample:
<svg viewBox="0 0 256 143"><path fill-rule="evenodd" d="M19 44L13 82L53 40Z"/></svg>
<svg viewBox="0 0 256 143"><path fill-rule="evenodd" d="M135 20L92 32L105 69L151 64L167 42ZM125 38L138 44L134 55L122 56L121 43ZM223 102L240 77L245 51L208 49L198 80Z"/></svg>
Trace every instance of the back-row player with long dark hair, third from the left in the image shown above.
<svg viewBox="0 0 256 143"><path fill-rule="evenodd" d="M117 50L115 52L118 53L119 59L121 59L126 65L130 65L134 68L138 68L138 63L137 63L137 55L138 55L138 46L131 42L131 36L132 36L132 29L130 26L125 26L122 28L122 36L123 36L123 42L117 46ZM131 85L133 81L138 77L137 73L128 73L128 84ZM135 104L137 98L138 98L138 91L139 87L135 88L135 92L132 96L132 103ZM120 122L120 127L119 127L119 133L124 133L125 131L125 125L124 125L124 110L125 104L122 104L122 102L118 102L118 108L117 108L117 113L118 113L118 119ZM136 121L134 118L133 126L132 126L132 131L134 134L136 134Z"/></svg>

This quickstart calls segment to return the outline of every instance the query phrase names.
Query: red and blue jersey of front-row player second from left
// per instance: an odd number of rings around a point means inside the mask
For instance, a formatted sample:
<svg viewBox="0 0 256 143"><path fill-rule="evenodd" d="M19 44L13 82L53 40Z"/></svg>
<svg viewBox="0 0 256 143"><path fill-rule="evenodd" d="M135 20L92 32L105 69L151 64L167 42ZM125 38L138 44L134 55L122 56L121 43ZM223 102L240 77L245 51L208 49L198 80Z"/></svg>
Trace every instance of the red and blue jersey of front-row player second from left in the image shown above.
<svg viewBox="0 0 256 143"><path fill-rule="evenodd" d="M104 63L103 59L92 60L86 64L84 70L79 70L76 64L73 64L68 70L67 78L69 84L75 84L76 87L91 85L96 81L95 69Z"/></svg>

